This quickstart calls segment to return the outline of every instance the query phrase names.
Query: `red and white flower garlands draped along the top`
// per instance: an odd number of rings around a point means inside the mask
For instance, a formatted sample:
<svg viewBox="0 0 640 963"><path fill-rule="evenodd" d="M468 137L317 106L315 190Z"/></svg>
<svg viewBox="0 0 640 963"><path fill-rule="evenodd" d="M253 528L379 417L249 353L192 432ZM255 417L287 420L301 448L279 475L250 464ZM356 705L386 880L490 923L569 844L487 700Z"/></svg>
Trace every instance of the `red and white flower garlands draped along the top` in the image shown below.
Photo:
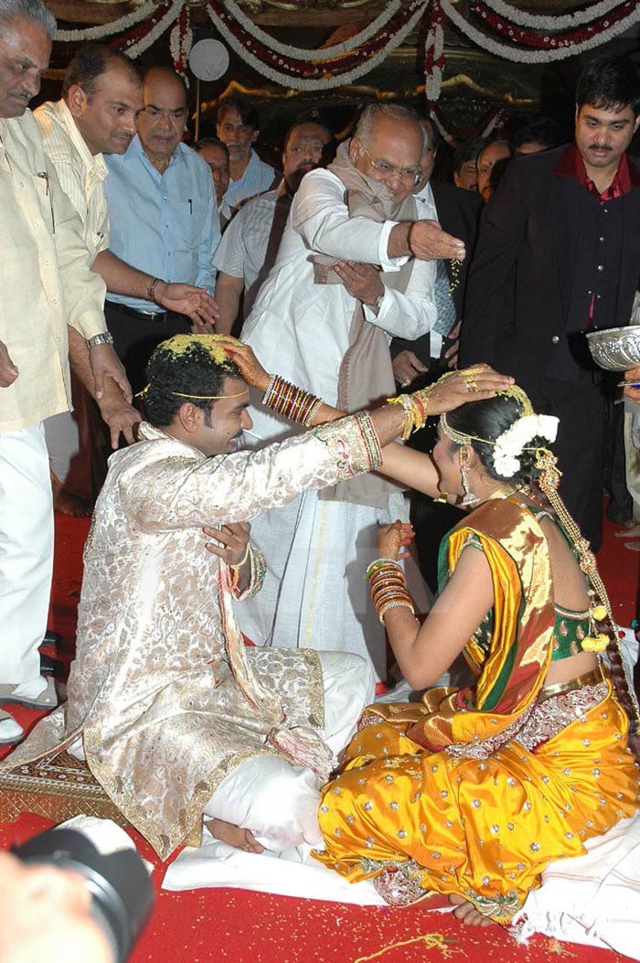
<svg viewBox="0 0 640 963"><path fill-rule="evenodd" d="M545 64L576 56L640 22L640 4L635 0L600 0L588 11L558 17L525 13L504 0L474 0L472 11L504 39L499 42L465 19L454 3L455 0L432 3L425 42L425 93L431 105L435 105L442 90L445 17L482 49L503 60L525 64ZM413 30L428 6L429 0L389 0L381 13L354 37L320 50L279 43L253 24L235 0L209 0L207 12L229 45L263 76L283 87L320 91L348 84L381 64ZM189 0L166 0L160 7L154 0L147 0L137 10L110 23L83 30L58 30L55 39L101 40L129 31L115 40L115 45L135 57L178 20L169 46L174 63L184 72L192 44L188 7ZM570 32L558 33L565 28Z"/></svg>

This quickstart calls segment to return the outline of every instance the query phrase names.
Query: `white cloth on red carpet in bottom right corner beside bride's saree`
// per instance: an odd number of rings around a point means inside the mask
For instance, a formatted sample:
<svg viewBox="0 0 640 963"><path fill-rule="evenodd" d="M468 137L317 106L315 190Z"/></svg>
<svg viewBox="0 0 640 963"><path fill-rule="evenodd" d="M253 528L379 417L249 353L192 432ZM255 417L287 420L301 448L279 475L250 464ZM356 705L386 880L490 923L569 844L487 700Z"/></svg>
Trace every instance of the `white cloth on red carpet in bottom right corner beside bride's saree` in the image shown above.
<svg viewBox="0 0 640 963"><path fill-rule="evenodd" d="M551 863L526 898L518 938L533 933L640 959L640 812Z"/></svg>

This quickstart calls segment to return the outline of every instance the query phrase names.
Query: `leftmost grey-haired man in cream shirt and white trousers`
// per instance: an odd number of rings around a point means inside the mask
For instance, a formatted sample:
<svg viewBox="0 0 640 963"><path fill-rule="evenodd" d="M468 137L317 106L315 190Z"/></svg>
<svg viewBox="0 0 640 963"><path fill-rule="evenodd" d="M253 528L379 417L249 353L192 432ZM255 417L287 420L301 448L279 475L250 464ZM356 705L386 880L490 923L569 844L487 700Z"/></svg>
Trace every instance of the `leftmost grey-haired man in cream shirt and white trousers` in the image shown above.
<svg viewBox="0 0 640 963"><path fill-rule="evenodd" d="M13 9L14 8L14 9ZM55 20L43 4L3 5L0 20L0 704L43 708L40 676L53 564L53 513L42 421L70 407L67 325L86 339L96 381L128 388L108 344L105 286L89 270L81 224L26 110L39 89ZM83 346L84 348L84 346ZM21 727L0 711L0 743Z"/></svg>

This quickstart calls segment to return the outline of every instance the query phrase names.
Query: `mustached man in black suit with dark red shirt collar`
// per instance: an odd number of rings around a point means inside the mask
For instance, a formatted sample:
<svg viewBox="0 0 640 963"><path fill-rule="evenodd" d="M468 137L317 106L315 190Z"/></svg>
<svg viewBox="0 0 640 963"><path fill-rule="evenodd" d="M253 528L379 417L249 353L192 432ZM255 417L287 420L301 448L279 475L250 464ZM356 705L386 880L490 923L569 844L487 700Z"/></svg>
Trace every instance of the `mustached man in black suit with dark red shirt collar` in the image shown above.
<svg viewBox="0 0 640 963"><path fill-rule="evenodd" d="M640 273L640 75L626 57L582 71L574 143L513 162L482 215L460 357L514 375L560 419L561 494L602 537L605 396L584 332L627 325Z"/></svg>

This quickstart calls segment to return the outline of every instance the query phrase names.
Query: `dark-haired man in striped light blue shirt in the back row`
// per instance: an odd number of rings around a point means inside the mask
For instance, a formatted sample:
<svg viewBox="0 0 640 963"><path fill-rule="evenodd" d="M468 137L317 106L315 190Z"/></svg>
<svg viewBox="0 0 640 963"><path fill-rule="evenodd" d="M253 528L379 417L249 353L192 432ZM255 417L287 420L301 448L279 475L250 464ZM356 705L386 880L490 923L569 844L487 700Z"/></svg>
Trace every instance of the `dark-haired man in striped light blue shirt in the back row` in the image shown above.
<svg viewBox="0 0 640 963"><path fill-rule="evenodd" d="M260 121L255 107L245 97L232 94L218 104L218 138L229 149L231 180L224 195L230 208L238 208L244 200L264 194L278 185L279 175L261 161L253 144L260 135Z"/></svg>

